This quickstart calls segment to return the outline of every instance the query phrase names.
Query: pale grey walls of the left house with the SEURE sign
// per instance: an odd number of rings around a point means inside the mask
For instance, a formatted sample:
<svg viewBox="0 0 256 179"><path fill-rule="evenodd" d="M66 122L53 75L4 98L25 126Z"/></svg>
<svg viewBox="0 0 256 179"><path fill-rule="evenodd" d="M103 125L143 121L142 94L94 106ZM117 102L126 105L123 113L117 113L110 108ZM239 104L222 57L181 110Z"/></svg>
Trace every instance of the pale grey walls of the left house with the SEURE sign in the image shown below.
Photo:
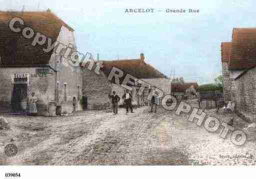
<svg viewBox="0 0 256 179"><path fill-rule="evenodd" d="M44 67L46 68L46 67ZM55 101L56 72L49 69L51 74L47 77L32 77L36 73L36 67L0 68L0 110L11 111L11 97L13 91L12 75L14 73L29 74L27 84L27 96L32 92L37 98L37 110L39 115L48 116L48 104ZM67 83L67 102L63 103L63 110L72 113L73 97L77 99L77 86L80 86L80 99L82 98L82 80L80 72L73 72L70 67L63 67L60 71L60 102L63 102L63 85ZM62 104L61 104L62 105ZM80 100L76 100L76 111L82 110Z"/></svg>

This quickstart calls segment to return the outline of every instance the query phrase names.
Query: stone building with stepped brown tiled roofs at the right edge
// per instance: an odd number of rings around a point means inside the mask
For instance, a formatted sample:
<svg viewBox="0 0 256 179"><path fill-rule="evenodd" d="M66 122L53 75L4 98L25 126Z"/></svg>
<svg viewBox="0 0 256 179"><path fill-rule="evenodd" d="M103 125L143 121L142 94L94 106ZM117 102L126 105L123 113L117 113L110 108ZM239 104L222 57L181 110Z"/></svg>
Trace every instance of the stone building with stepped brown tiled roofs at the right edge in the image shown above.
<svg viewBox="0 0 256 179"><path fill-rule="evenodd" d="M237 112L256 121L256 28L234 28L231 42L223 42L224 98Z"/></svg>

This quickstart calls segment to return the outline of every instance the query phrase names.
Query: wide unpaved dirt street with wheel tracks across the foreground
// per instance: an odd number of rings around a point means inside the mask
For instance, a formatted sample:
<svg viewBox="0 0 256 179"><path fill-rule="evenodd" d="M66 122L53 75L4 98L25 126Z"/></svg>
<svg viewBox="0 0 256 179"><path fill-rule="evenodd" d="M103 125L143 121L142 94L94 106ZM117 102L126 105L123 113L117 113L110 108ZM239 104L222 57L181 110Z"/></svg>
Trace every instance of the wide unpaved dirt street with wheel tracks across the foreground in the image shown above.
<svg viewBox="0 0 256 179"><path fill-rule="evenodd" d="M194 106L196 104L193 103ZM236 114L210 116L237 129L246 127ZM0 130L0 165L255 165L256 139L248 136L238 147L187 121L188 115L146 107L125 115L110 111L84 111L67 117L20 117L1 114L12 131ZM14 157L4 155L4 146L15 144ZM230 157L227 157L229 155ZM233 156L243 156L235 157ZM221 157L225 156L225 157Z"/></svg>

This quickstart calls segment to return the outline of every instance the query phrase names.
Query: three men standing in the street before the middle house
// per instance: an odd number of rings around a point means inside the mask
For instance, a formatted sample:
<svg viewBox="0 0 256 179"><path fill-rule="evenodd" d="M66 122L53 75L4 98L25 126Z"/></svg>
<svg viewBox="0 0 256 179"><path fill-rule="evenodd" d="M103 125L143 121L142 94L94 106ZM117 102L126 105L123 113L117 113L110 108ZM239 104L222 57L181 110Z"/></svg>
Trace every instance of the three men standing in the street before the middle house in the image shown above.
<svg viewBox="0 0 256 179"><path fill-rule="evenodd" d="M151 90L155 90L155 87L152 87ZM150 92L150 91L149 91ZM112 108L113 113L118 114L118 102L120 101L120 97L116 94L115 91L112 92L112 94L108 95L112 102ZM124 100L125 108L126 108L126 114L128 114L129 109L131 113L133 112L132 108L132 95L129 92L129 90L126 90L124 95L122 96L122 99ZM158 104L158 96L157 95L149 95L148 98L148 104L149 104L149 112L157 112L157 104Z"/></svg>

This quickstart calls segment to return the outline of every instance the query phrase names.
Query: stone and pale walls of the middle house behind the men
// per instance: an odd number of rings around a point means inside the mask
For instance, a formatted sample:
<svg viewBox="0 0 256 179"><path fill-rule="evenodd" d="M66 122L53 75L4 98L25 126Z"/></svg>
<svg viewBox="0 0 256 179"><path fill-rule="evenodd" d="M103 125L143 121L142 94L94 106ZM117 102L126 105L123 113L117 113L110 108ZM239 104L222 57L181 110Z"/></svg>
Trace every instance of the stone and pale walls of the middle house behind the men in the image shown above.
<svg viewBox="0 0 256 179"><path fill-rule="evenodd" d="M88 109L106 109L111 107L111 100L108 98L108 94L112 94L113 91L121 98L118 105L124 104L122 96L124 95L125 89L121 85L111 83L103 73L100 75L95 74L94 68L92 68L92 71L87 68L83 68L81 71L83 78L83 96L87 96ZM142 80L162 89L164 94L171 94L169 79L149 78ZM139 97L136 94L135 87L133 87L130 93L133 96L132 105L144 105L143 97ZM144 98L144 101L147 101L147 96Z"/></svg>

